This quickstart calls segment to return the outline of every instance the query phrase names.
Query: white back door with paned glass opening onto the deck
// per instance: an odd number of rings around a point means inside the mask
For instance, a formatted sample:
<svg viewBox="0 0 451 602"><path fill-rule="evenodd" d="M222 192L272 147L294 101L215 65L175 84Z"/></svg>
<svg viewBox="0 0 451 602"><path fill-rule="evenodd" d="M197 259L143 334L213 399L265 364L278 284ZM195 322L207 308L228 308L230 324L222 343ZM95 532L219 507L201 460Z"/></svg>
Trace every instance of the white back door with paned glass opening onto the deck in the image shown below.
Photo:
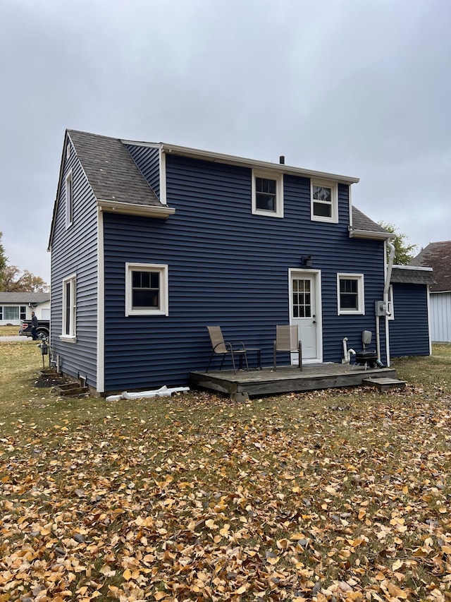
<svg viewBox="0 0 451 602"><path fill-rule="evenodd" d="M291 272L290 322L296 324L299 329L303 361L321 361L321 299L317 282L319 273Z"/></svg>

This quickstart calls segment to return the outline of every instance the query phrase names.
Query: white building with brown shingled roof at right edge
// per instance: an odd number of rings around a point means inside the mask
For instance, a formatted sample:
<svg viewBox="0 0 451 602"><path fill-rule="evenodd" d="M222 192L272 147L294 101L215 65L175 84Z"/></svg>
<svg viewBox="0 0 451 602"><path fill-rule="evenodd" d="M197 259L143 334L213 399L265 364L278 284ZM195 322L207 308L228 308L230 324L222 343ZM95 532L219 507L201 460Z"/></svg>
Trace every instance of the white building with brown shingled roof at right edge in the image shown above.
<svg viewBox="0 0 451 602"><path fill-rule="evenodd" d="M410 265L432 267L431 339L451 343L451 241L429 243Z"/></svg>

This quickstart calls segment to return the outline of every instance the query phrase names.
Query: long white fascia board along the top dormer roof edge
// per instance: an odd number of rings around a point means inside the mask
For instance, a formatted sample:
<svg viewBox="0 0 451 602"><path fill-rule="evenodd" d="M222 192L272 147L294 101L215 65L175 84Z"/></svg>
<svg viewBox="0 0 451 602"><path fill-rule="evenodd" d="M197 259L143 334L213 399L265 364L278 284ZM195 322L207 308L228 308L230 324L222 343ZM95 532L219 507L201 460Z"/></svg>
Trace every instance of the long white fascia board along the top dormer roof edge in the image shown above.
<svg viewBox="0 0 451 602"><path fill-rule="evenodd" d="M249 168L269 169L271 171L280 171L283 174L292 174L295 176L304 176L306 178L319 178L340 182L342 184L354 184L360 181L359 178L352 176L342 176L340 174L329 174L326 171L315 171L313 169L303 169L302 167L290 167L282 163L271 163L268 161L257 161L256 159L246 159L245 157L235 157L234 155L223 155L221 152L211 152L209 150L199 150L198 148L190 148L187 146L178 146L167 143L143 143L132 142L131 140L121 140L125 144L135 144L137 146L148 146L150 148L160 147L162 152L173 153L174 155L183 155L184 157L193 157L194 159L204 159L204 161L212 161L218 163L226 163L229 165L242 165Z"/></svg>

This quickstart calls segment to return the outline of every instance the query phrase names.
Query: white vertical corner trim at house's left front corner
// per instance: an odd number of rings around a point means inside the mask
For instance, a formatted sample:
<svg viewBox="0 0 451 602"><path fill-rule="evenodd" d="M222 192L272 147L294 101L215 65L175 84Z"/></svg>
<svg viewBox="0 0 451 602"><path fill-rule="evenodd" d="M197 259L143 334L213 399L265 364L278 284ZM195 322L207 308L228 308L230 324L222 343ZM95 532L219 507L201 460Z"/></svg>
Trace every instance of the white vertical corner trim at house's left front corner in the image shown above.
<svg viewBox="0 0 451 602"><path fill-rule="evenodd" d="M96 390L105 390L105 270L104 215L97 214L97 373Z"/></svg>

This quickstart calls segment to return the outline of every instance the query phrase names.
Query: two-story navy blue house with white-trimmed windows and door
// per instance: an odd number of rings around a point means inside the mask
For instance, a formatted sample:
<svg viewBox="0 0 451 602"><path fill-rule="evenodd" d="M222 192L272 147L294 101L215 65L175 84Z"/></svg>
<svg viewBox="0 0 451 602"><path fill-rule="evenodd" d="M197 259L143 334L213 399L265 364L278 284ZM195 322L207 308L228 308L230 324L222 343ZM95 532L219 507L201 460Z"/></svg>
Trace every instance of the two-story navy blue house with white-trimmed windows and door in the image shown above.
<svg viewBox="0 0 451 602"><path fill-rule="evenodd" d="M304 363L341 362L371 330L388 364L392 235L352 206L358 181L66 131L49 239L61 370L99 393L183 385L206 368L206 325L265 366L288 323Z"/></svg>

